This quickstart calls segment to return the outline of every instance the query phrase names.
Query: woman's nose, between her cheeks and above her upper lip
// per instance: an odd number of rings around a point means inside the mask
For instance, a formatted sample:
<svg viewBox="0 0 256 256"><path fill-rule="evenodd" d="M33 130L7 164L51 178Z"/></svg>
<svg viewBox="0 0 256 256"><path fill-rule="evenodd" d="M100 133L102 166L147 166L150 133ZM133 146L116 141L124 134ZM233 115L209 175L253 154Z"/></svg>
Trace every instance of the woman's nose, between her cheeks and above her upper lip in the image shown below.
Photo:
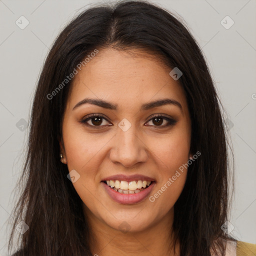
<svg viewBox="0 0 256 256"><path fill-rule="evenodd" d="M113 163L120 163L124 167L132 168L147 160L147 152L147 146L139 133L136 132L135 125L131 125L126 131L117 128L114 136L114 146L109 154Z"/></svg>

